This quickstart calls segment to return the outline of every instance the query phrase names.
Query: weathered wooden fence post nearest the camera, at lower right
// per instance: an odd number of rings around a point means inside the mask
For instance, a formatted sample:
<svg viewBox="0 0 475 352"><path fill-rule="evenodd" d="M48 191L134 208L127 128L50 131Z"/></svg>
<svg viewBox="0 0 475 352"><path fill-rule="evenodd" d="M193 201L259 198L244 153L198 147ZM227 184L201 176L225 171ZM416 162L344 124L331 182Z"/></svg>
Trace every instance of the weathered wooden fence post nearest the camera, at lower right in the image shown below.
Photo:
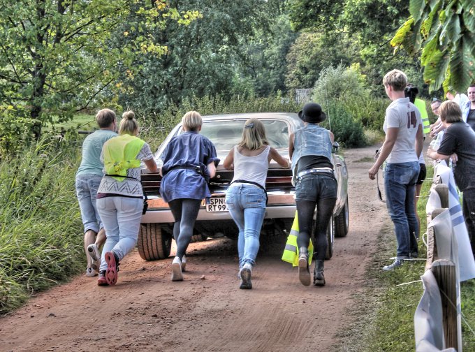
<svg viewBox="0 0 475 352"><path fill-rule="evenodd" d="M442 302L442 322L444 324L444 339L446 348L458 349L457 333L457 286L455 264L446 259L439 259L430 268L434 274Z"/></svg>

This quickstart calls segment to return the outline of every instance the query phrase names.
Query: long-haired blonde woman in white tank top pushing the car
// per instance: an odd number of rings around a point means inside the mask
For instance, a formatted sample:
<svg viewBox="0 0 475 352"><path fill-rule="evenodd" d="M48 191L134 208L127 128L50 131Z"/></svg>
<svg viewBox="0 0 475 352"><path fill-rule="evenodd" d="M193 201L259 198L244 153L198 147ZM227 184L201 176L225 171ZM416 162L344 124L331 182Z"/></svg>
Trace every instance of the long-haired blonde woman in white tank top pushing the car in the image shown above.
<svg viewBox="0 0 475 352"><path fill-rule="evenodd" d="M265 178L271 160L290 168L290 162L270 147L264 125L248 119L242 138L229 151L223 166L234 170L233 181L226 192L226 205L239 229L238 254L240 288L252 288L251 272L259 250L259 235L265 214Z"/></svg>

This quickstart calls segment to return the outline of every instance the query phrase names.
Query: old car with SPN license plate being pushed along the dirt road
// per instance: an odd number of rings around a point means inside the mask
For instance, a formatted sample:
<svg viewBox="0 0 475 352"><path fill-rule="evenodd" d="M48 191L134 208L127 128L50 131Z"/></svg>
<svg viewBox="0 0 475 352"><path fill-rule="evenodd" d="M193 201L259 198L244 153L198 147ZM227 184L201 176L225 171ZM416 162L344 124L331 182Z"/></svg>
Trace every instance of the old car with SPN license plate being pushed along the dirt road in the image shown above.
<svg viewBox="0 0 475 352"><path fill-rule="evenodd" d="M216 175L210 179L211 198L203 200L194 227L194 240L205 240L207 237L238 237L231 214L225 203L226 189L233 179L233 170L226 170L222 161L242 135L244 122L250 118L260 119L265 126L271 147L288 158L288 137L303 124L297 114L291 112L260 112L230 115L203 116L200 133L209 138L217 149L221 162L217 166ZM182 124L177 124L161 143L155 154L156 163L161 166L160 156L173 136L184 133ZM327 230L328 249L326 258L333 256L335 237L344 237L349 227L348 207L348 173L344 158L337 154L338 145L334 144L332 163L338 183L337 202L333 210L333 221ZM291 229L295 217L295 189L291 183L291 168L282 168L272 161L268 169L265 189L268 193L268 204L265 210L262 235L286 235ZM159 173L148 173L142 170L142 186L147 195L148 210L142 216L138 235L138 252L147 260L168 258L173 237L173 214L168 204L160 196L161 176Z"/></svg>

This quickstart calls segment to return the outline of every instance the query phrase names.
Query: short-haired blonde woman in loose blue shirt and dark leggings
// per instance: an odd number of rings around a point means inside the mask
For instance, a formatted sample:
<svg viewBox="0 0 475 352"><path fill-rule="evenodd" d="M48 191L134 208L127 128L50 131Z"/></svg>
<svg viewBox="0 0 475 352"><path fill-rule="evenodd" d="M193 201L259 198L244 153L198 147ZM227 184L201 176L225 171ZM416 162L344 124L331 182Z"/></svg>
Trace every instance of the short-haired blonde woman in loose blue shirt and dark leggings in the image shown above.
<svg viewBox="0 0 475 352"><path fill-rule="evenodd" d="M184 133L176 135L161 155L160 193L170 206L175 225L173 238L177 253L172 263L172 281L182 281L185 253L193 235L201 200L211 196L207 181L214 177L219 163L216 148L204 135L200 135L203 119L196 111L182 117Z"/></svg>

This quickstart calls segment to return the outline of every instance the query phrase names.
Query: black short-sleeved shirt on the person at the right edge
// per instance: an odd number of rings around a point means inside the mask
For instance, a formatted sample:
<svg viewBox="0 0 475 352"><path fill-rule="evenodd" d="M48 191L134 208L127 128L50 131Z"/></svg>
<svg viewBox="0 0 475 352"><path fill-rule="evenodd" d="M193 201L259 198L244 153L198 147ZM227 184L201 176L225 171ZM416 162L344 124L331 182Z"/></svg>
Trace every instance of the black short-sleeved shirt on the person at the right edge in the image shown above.
<svg viewBox="0 0 475 352"><path fill-rule="evenodd" d="M453 169L455 183L460 191L475 188L475 132L465 122L448 126L437 153L457 153L458 161Z"/></svg>

